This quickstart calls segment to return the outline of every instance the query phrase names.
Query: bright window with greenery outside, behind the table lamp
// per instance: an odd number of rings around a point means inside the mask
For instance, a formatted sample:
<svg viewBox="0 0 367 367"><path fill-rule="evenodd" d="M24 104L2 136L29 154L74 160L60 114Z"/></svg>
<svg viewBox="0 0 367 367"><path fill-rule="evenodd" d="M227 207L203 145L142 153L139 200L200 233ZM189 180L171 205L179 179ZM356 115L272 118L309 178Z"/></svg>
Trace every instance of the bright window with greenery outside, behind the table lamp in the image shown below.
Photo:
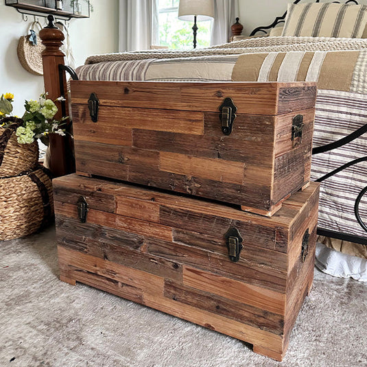
<svg viewBox="0 0 367 367"><path fill-rule="evenodd" d="M193 48L193 21L180 21L178 19L179 0L158 0L158 37L159 45L168 46L170 49ZM199 1L199 0L198 0ZM212 21L198 22L196 47L208 47L211 39Z"/></svg>

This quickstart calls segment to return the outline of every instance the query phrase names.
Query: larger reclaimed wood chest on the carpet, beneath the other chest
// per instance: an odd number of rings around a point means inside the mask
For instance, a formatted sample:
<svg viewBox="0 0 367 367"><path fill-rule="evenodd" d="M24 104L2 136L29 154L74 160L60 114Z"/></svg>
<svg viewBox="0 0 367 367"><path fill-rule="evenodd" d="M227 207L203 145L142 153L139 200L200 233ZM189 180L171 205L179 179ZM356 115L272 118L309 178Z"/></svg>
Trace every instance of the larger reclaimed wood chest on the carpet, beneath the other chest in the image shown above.
<svg viewBox="0 0 367 367"><path fill-rule="evenodd" d="M313 279L318 184L265 217L77 175L54 180L60 279L104 289L281 360Z"/></svg>

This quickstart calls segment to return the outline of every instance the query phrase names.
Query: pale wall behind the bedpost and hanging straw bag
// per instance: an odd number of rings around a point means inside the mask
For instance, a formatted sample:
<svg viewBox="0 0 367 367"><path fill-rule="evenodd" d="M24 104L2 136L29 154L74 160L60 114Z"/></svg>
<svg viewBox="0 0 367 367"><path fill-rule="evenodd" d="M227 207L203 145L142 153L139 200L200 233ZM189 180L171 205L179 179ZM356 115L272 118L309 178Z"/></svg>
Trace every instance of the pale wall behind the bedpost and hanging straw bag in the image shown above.
<svg viewBox="0 0 367 367"><path fill-rule="evenodd" d="M72 19L70 36L73 53L78 65L86 56L116 52L118 49L118 0L92 0L94 12L89 19ZM33 17L29 16L29 20ZM40 23L44 19L40 18ZM43 92L43 78L23 69L16 56L20 36L27 33L29 23L14 8L0 1L0 95L15 95L14 114L23 115L25 99L36 99Z"/></svg>

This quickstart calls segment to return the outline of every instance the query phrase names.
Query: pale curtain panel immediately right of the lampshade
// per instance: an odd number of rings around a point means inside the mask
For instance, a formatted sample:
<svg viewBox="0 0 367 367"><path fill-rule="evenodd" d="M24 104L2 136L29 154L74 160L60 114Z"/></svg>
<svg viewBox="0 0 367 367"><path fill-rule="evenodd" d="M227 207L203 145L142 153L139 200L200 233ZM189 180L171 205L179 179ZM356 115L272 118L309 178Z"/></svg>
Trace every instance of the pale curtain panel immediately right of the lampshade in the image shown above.
<svg viewBox="0 0 367 367"><path fill-rule="evenodd" d="M214 21L211 31L211 45L228 42L230 26L239 16L238 0L214 0Z"/></svg>

